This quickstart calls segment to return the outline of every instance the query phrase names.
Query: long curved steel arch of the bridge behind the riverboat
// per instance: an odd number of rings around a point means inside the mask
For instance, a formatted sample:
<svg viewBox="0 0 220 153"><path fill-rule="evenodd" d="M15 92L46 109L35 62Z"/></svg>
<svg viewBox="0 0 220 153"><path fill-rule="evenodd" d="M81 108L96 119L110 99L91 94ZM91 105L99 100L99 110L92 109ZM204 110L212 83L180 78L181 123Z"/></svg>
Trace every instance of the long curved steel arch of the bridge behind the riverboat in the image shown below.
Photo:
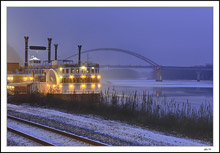
<svg viewBox="0 0 220 153"><path fill-rule="evenodd" d="M121 53L125 53L125 54L129 54L129 55L135 56L135 57L137 57L137 58L147 62L148 64L150 64L150 65L152 65L154 67L158 67L159 66L159 64L157 64L156 62L150 60L149 58L147 58L147 57L145 57L145 56L143 56L141 54L138 54L138 53L135 53L135 52L132 52L132 51L129 51L129 50L119 49L119 48L95 48L95 49L89 49L89 50L82 51L82 54L89 53L89 52L98 52L98 51L121 52ZM76 55L78 55L78 54L73 54L73 55L65 58L65 60L69 59L71 57L74 57Z"/></svg>

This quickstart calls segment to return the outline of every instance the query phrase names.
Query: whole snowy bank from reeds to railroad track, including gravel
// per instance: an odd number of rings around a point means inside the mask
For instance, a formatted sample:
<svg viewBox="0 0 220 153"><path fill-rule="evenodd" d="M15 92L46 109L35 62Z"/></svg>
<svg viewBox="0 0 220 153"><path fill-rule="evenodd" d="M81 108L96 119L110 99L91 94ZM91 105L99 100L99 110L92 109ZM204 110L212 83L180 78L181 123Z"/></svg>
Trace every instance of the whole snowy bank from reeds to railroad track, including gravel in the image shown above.
<svg viewBox="0 0 220 153"><path fill-rule="evenodd" d="M27 104L8 104L8 113L24 119L82 134L113 146L211 146L211 143L168 135L148 128Z"/></svg>

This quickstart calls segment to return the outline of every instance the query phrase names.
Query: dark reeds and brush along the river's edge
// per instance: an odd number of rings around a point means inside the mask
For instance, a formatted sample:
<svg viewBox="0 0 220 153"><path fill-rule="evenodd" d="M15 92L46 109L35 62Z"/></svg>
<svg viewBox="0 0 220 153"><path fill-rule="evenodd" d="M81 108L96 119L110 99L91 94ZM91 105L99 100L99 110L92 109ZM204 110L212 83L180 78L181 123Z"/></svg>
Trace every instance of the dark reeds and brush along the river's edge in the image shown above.
<svg viewBox="0 0 220 153"><path fill-rule="evenodd" d="M28 97L27 97L28 96ZM143 91L119 94L117 91L101 91L100 95L89 94L76 96L70 100L60 100L57 97L39 93L10 97L8 102L27 102L35 106L56 108L70 113L100 115L105 119L119 120L129 124L140 125L160 131L213 141L213 113L210 102L205 102L199 108L192 107L190 102L177 103L164 97L157 100L154 95Z"/></svg>

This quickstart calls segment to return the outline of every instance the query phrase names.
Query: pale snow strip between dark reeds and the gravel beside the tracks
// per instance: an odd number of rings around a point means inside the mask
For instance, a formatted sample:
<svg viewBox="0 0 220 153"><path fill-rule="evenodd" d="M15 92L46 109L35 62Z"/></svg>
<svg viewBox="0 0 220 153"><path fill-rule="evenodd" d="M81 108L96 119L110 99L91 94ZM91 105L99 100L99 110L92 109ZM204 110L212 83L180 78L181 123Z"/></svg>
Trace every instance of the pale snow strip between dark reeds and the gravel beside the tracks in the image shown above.
<svg viewBox="0 0 220 153"><path fill-rule="evenodd" d="M211 146L208 142L178 138L165 135L161 132L143 129L138 126L128 125L125 123L104 120L100 117L91 115L68 114L52 109L31 107L28 105L7 104L8 111L16 111L30 115L36 115L57 122L66 122L68 125L74 125L81 128L87 128L94 133L108 135L109 137L118 138L124 141L133 142L133 144L143 146Z"/></svg>

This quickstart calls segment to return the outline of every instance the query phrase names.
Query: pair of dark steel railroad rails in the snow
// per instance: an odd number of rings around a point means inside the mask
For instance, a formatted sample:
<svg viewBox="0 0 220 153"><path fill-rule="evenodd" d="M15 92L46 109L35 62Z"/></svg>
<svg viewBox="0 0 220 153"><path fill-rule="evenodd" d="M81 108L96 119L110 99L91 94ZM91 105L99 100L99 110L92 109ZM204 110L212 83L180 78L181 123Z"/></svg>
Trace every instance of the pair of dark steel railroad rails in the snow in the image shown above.
<svg viewBox="0 0 220 153"><path fill-rule="evenodd" d="M86 138L86 137L83 137L83 136L79 136L79 135L76 135L76 134L73 134L73 133L70 133L70 132L67 132L67 131L62 131L62 130L59 130L59 129L55 129L53 127L49 127L49 126L46 126L46 125L42 125L42 124L39 124L39 123L35 123L35 122L32 122L32 121L28 121L28 120L21 119L21 118L18 118L18 117L15 117L15 116L11 116L11 115L7 115L7 117L8 117L8 119L12 119L12 120L15 120L15 121L18 121L18 122L25 123L27 125L38 127L40 129L44 129L44 130L53 132L55 134L59 134L59 135L62 135L62 136L65 136L65 137L68 137L68 138L71 138L71 139L75 139L77 141L80 141L80 142L83 142L83 143L86 143L86 144L89 144L89 145L92 145L92 146L107 146L104 143L101 143L101 142L98 142L96 140L92 140L92 139L89 139L89 138ZM39 143L41 145L44 145L44 146L56 146L53 143L50 143L50 142L48 142L46 140L37 138L35 136L32 136L32 135L30 135L28 133L25 133L23 131L17 130L15 128L7 127L7 129L10 132L16 133L16 134L18 134L18 135L20 135L22 137L25 137L25 138L30 139L32 141L35 141L35 142L37 142L37 143Z"/></svg>

